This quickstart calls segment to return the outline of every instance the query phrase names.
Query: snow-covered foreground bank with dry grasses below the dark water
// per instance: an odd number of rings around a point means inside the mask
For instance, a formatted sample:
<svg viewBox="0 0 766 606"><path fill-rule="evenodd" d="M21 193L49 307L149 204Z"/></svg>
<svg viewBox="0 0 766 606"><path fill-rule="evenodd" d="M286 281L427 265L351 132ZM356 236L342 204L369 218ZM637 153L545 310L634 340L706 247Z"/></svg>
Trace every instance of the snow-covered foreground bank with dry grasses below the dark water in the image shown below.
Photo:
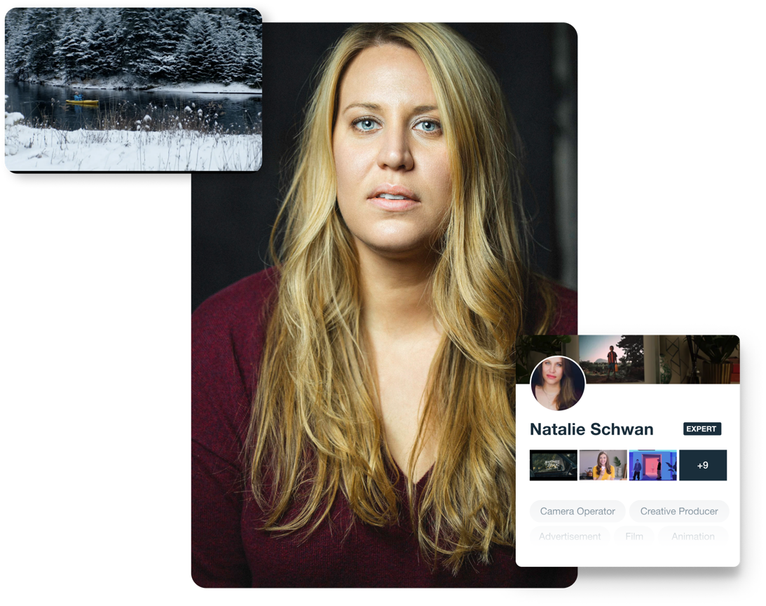
<svg viewBox="0 0 766 606"><path fill-rule="evenodd" d="M203 134L194 130L57 130L13 124L5 117L8 170L258 170L257 134Z"/></svg>

